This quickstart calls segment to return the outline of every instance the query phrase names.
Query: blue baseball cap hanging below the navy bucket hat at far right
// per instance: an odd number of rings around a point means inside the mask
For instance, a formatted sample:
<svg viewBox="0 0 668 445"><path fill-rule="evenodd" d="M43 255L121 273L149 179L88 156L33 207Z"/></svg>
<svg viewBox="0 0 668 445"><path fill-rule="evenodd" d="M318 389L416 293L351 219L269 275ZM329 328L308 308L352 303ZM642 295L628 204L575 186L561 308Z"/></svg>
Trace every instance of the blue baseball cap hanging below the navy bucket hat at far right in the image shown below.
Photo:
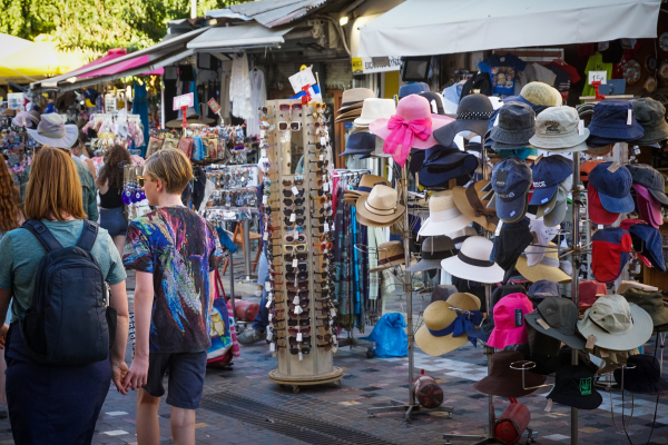
<svg viewBox="0 0 668 445"><path fill-rule="evenodd" d="M611 172L608 169L611 165L612 162L601 162L596 166L589 174L589 186L598 191L606 210L612 214L631 212L636 208L631 197L631 172L625 166L619 166Z"/></svg>

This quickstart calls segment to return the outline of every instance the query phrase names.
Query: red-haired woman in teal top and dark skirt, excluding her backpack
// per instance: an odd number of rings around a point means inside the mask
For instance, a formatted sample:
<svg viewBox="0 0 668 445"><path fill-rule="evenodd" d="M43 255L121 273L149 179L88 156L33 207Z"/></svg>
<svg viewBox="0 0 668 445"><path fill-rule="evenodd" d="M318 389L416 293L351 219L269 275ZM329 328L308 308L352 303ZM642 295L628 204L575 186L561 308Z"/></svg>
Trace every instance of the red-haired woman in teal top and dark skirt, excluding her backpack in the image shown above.
<svg viewBox="0 0 668 445"><path fill-rule="evenodd" d="M77 245L86 214L77 167L60 149L42 147L35 156L26 194L24 215L41 222L65 248ZM90 224L90 222L89 222ZM95 228L95 226L92 226ZM125 394L125 349L128 336L126 273L107 230L99 228L90 254L109 285L109 304L118 313L109 357L81 366L38 364L28 354L19 320L31 307L38 267L46 248L28 229L4 234L0 243L0 319L9 305L12 319L4 339L9 419L16 444L90 444L112 380ZM70 295L61 298L78 298ZM2 338L6 337L6 338Z"/></svg>

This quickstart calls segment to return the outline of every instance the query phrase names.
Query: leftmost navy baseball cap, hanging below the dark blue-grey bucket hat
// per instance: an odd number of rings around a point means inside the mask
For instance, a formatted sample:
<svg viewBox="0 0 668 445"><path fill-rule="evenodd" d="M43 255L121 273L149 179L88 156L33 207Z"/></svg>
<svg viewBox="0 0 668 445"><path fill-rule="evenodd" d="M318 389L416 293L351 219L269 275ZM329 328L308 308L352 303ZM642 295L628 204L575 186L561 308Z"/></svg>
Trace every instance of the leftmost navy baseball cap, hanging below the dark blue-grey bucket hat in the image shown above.
<svg viewBox="0 0 668 445"><path fill-rule="evenodd" d="M521 159L508 158L492 171L492 189L497 215L503 221L514 222L527 212L527 192L531 188L531 169Z"/></svg>

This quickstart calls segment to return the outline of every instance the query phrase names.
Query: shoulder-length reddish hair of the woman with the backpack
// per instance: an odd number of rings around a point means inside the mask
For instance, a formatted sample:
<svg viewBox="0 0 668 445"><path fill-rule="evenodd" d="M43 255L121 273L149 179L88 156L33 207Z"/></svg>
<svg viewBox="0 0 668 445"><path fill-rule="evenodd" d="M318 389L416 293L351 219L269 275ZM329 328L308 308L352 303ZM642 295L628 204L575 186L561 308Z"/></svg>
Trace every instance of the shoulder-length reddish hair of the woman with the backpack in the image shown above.
<svg viewBox="0 0 668 445"><path fill-rule="evenodd" d="M85 219L82 201L81 182L72 158L61 149L42 147L30 168L26 219L63 221L67 216Z"/></svg>

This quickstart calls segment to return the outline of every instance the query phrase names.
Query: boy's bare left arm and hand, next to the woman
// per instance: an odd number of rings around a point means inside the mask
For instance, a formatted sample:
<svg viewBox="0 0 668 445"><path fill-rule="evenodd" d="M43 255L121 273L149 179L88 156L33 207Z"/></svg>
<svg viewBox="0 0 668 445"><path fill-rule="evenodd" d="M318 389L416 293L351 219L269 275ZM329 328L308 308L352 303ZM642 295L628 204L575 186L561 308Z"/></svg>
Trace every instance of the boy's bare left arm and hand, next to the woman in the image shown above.
<svg viewBox="0 0 668 445"><path fill-rule="evenodd" d="M148 343L154 301L153 274L136 270L135 279L135 358L122 380L127 389L146 385L148 376Z"/></svg>

